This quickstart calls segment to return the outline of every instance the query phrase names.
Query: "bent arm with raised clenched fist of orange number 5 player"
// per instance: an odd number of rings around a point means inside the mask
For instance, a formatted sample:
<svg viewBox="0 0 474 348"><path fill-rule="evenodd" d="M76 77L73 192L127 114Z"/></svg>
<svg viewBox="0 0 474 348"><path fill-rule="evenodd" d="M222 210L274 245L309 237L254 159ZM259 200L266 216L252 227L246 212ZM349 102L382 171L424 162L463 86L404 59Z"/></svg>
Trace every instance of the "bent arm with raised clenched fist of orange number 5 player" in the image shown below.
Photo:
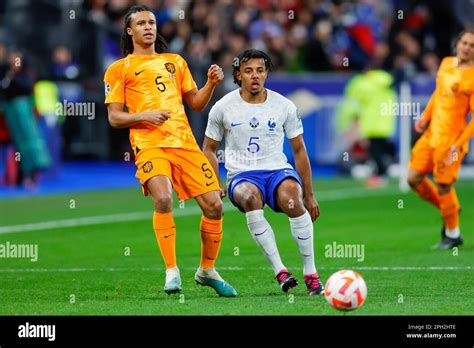
<svg viewBox="0 0 474 348"><path fill-rule="evenodd" d="M201 112L205 109L207 103L214 93L216 85L224 79L224 72L222 68L216 64L211 65L207 71L207 82L201 89L193 88L189 92L183 95L184 100L189 107L194 110Z"/></svg>

